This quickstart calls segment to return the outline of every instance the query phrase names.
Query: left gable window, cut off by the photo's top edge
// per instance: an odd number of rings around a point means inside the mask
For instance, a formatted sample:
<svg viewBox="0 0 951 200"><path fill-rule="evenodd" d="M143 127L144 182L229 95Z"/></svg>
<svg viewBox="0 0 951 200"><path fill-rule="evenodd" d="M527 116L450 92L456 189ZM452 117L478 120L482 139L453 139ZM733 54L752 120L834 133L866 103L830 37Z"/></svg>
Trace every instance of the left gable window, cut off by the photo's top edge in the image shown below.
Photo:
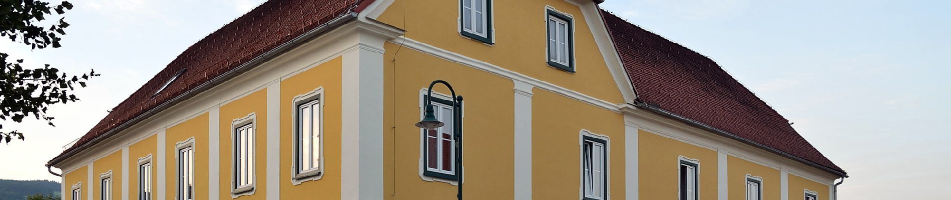
<svg viewBox="0 0 951 200"><path fill-rule="evenodd" d="M491 0L461 0L459 20L463 36L492 44Z"/></svg>

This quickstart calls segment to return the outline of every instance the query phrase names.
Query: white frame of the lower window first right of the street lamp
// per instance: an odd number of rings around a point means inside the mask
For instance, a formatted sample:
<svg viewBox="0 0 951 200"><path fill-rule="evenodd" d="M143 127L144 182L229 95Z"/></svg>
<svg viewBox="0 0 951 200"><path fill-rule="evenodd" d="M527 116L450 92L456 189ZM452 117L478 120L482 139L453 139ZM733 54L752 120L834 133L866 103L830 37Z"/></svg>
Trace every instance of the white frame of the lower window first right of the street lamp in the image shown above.
<svg viewBox="0 0 951 200"><path fill-rule="evenodd" d="M610 174L610 170L609 170L609 169L611 169L611 139L610 139L608 136L594 134L594 133L592 133L591 131L588 131L588 130L581 130L581 132L580 132L580 134L579 134L579 136L578 136L578 139L579 139L579 140L578 140L578 148L579 148L579 156L578 156L578 157L579 157L579 161L580 161L580 162L578 163L578 164L579 164L578 166L580 167L579 169L580 169L580 173L581 173L581 174L580 174L580 175L581 175L581 176L580 176L580 178L581 178L581 183L580 183L581 187L580 187L580 191L579 191L579 192L580 192L580 195L581 195L581 199L584 199L584 200L607 200L607 199L609 199L609 198L611 197L611 190L610 190L610 189L611 189L611 186L610 186L610 185L611 185L611 184L610 184L610 183L611 183L611 181L610 181L610 179L611 179L611 174ZM601 188L600 188L600 190L598 190L598 189L595 187L595 186L597 186L597 185L594 183L594 182L596 182L596 180L594 179L594 176L592 176L592 182L591 182L592 185L591 185L591 187L590 187L590 188L591 188L590 190L592 191L591 194L588 193L588 191L589 191L589 186L588 186L589 182L587 181L587 180L588 180L588 178L587 178L587 177L588 177L588 173L587 173L587 172L588 172L588 169L586 169L586 163L587 163L587 162L586 162L586 161L587 161L587 160L586 160L587 156L586 156L586 154L585 154L586 151L587 151L587 148L585 147L585 144L586 144L586 143L601 144L601 147L603 148L603 149L602 149L602 154L603 154L603 155L601 155L601 157L602 157L602 159L603 159L603 160L602 160L603 163L602 163L602 166L601 166L601 168L602 168L602 169L601 169L601 170L602 170L601 176L602 176L602 177L601 177L601 181L599 181L599 182L601 182L601 186L600 186ZM593 154L593 152L592 152L592 154ZM592 157L592 159L593 159L593 157ZM593 167L594 167L594 165L593 165L593 162L592 162L592 168L593 168ZM592 169L592 170L594 170L594 169ZM593 174L593 171L592 171L592 175L594 175L594 174ZM600 193L600 196L598 196L596 193L593 193L593 191L601 191L602 193Z"/></svg>

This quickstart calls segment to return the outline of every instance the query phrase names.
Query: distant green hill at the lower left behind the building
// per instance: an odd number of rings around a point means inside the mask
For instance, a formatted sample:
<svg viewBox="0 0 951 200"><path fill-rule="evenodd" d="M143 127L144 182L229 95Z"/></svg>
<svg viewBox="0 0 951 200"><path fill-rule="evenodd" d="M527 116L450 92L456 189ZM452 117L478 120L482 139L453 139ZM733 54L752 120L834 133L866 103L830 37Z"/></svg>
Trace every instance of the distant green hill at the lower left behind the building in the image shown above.
<svg viewBox="0 0 951 200"><path fill-rule="evenodd" d="M24 200L35 193L60 195L59 183L49 180L0 179L0 200Z"/></svg>

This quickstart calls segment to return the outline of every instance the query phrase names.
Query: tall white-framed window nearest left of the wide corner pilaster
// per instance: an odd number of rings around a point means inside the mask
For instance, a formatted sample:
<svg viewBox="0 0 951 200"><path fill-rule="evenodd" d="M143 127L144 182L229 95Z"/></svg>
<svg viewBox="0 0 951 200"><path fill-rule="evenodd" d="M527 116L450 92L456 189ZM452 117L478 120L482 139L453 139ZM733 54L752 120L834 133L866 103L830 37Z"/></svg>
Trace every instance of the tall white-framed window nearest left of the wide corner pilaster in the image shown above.
<svg viewBox="0 0 951 200"><path fill-rule="evenodd" d="M294 98L295 183L317 180L323 175L323 90L318 88Z"/></svg>

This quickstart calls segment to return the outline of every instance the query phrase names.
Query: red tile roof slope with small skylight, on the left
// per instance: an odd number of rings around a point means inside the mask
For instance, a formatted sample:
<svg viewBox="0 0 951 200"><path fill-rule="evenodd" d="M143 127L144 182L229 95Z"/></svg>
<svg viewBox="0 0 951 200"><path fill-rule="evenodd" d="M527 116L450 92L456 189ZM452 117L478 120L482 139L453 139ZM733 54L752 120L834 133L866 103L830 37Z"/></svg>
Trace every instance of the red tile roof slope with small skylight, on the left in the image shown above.
<svg viewBox="0 0 951 200"><path fill-rule="evenodd" d="M189 46L139 90L119 103L62 154L63 158L94 138L160 104L184 95L267 51L290 42L316 27L351 11L359 12L373 0L270 0ZM174 82L156 94L165 82L184 70ZM154 95L153 95L154 94Z"/></svg>

